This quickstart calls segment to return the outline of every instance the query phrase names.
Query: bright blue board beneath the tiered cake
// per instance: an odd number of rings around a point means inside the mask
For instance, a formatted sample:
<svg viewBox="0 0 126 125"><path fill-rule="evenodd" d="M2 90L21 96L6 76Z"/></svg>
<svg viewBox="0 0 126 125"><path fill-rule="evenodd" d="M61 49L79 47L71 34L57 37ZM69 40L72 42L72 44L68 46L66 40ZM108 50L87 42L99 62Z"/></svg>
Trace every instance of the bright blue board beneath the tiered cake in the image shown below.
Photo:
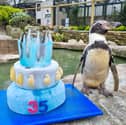
<svg viewBox="0 0 126 125"><path fill-rule="evenodd" d="M103 115L103 112L73 85L66 84L66 101L46 114L20 115L7 106L6 90L0 91L0 125L48 125Z"/></svg>

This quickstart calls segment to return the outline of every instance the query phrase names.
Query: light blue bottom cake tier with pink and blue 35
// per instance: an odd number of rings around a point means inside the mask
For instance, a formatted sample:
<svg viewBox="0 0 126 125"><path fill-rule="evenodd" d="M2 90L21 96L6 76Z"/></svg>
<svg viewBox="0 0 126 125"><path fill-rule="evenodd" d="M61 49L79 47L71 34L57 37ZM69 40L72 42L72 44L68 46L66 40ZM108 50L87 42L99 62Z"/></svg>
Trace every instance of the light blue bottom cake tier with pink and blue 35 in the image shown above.
<svg viewBox="0 0 126 125"><path fill-rule="evenodd" d="M9 108L20 114L49 112L65 101L65 87L62 81L48 89L26 90L12 83L7 89Z"/></svg>

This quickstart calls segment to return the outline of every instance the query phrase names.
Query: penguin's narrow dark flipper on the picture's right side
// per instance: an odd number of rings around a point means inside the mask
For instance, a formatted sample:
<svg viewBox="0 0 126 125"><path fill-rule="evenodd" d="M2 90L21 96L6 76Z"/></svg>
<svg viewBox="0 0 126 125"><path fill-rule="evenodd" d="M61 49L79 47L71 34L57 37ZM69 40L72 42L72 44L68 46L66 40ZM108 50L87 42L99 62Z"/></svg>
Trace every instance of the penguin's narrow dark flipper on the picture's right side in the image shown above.
<svg viewBox="0 0 126 125"><path fill-rule="evenodd" d="M118 89L119 89L119 76L118 76L118 71L117 71L116 65L114 64L114 59L112 56L111 56L110 68L111 68L111 72L112 72L113 79L114 79L114 91L118 91Z"/></svg>

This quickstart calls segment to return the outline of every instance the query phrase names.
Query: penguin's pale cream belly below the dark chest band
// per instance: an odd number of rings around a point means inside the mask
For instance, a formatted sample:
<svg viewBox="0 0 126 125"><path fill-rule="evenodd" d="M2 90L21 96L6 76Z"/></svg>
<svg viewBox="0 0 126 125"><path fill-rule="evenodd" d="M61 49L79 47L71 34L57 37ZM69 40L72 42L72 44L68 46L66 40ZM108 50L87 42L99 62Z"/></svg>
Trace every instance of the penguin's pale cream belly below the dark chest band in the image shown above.
<svg viewBox="0 0 126 125"><path fill-rule="evenodd" d="M102 84L109 71L109 52L104 49L92 49L88 51L82 78L89 87L98 87Z"/></svg>

